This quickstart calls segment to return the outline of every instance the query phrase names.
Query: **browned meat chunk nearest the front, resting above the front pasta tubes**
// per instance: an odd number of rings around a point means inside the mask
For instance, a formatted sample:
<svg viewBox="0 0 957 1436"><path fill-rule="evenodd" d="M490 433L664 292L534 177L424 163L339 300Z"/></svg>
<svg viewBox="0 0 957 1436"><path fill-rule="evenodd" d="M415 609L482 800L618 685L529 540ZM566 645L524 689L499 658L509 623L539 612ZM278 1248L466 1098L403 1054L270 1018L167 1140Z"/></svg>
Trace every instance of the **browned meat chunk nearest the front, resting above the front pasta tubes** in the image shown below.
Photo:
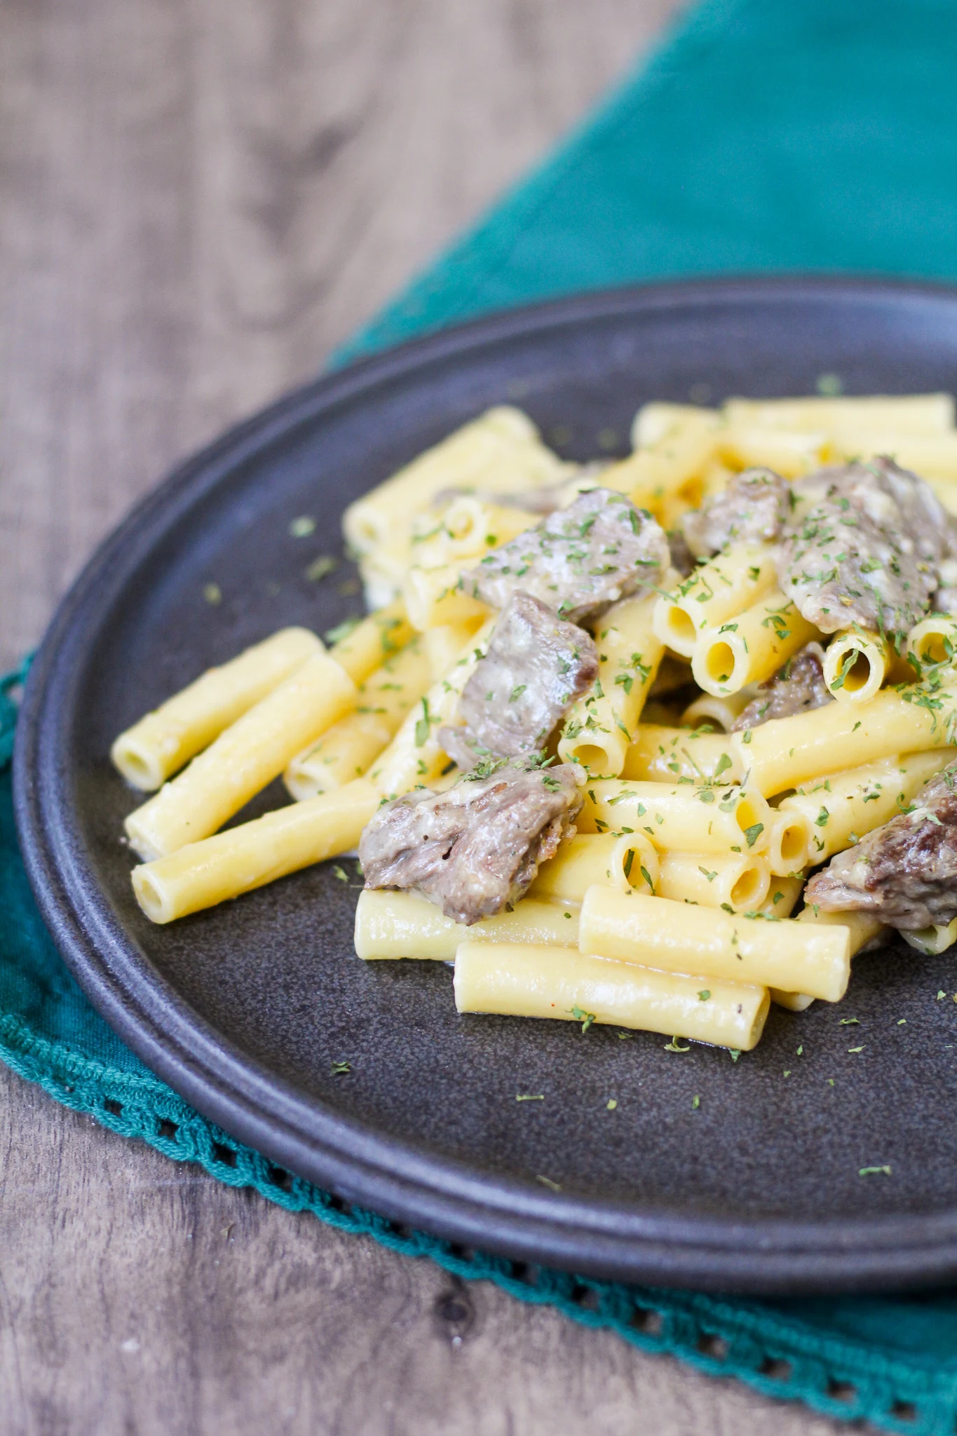
<svg viewBox="0 0 957 1436"><path fill-rule="evenodd" d="M575 831L575 770L499 761L481 774L380 807L359 843L366 885L413 889L466 925L518 902L538 864Z"/></svg>

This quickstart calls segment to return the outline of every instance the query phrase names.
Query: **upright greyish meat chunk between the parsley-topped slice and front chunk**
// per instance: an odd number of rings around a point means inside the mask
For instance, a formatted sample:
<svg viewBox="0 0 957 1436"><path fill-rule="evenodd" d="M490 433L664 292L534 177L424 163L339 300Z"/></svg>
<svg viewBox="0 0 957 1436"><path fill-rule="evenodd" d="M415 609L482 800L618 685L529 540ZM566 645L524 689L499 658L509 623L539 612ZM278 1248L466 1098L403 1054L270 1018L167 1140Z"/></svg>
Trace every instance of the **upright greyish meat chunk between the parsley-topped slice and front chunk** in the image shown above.
<svg viewBox="0 0 957 1436"><path fill-rule="evenodd" d="M568 705L597 676L598 651L590 635L518 589L462 691L465 728L440 728L439 742L465 771L476 757L539 752Z"/></svg>

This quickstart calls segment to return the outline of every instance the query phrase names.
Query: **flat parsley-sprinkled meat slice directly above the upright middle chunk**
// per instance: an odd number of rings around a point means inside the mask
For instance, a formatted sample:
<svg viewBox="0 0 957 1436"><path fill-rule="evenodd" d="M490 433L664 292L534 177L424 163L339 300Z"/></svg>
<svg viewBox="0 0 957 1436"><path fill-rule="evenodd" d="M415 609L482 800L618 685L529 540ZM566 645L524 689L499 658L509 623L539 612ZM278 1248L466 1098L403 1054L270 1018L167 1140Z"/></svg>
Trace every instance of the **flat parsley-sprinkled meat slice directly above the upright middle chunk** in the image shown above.
<svg viewBox="0 0 957 1436"><path fill-rule="evenodd" d="M610 488L591 488L561 513L489 553L459 587L504 609L517 589L561 617L583 623L643 586L660 583L669 563L664 530Z"/></svg>

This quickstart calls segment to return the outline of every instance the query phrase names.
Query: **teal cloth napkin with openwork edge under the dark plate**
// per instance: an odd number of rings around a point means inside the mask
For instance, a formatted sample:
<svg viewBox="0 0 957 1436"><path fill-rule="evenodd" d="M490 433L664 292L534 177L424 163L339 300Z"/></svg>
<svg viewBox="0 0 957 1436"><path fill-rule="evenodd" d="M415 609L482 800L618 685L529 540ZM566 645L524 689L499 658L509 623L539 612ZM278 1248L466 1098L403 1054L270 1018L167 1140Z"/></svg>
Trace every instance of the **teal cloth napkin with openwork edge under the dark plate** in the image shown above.
<svg viewBox="0 0 957 1436"><path fill-rule="evenodd" d="M957 4L710 0L337 355L575 289L716 271L957 277ZM0 685L0 765L16 709ZM832 1416L954 1436L957 1297L745 1301L456 1254L343 1211L199 1117L90 1008L46 933L0 771L0 1057L59 1101L462 1277Z"/></svg>

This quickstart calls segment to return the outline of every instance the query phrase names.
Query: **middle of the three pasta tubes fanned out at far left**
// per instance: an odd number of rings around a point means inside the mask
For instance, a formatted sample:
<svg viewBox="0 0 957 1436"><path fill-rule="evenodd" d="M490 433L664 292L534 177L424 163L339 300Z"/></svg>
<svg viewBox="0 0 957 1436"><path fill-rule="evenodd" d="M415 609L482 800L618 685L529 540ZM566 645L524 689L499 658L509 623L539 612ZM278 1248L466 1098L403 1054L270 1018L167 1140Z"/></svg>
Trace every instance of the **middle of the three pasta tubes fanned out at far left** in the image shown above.
<svg viewBox="0 0 957 1436"><path fill-rule="evenodd" d="M330 655L307 658L129 814L131 847L149 860L215 833L354 702L356 685Z"/></svg>

